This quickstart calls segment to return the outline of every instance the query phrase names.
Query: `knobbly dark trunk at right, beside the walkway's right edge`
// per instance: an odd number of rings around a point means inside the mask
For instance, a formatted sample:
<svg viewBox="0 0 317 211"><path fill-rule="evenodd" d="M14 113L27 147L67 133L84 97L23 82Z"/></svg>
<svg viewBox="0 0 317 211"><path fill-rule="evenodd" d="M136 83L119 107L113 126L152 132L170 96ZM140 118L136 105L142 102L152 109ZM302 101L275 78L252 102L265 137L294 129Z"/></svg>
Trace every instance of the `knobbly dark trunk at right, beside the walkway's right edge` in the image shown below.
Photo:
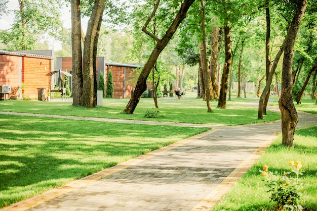
<svg viewBox="0 0 317 211"><path fill-rule="evenodd" d="M293 102L292 95L292 63L294 44L300 22L304 16L307 0L298 1L292 24L286 35L282 68L282 94L279 100L279 107L282 114L282 144L294 148L294 132L298 122L298 115Z"/></svg>

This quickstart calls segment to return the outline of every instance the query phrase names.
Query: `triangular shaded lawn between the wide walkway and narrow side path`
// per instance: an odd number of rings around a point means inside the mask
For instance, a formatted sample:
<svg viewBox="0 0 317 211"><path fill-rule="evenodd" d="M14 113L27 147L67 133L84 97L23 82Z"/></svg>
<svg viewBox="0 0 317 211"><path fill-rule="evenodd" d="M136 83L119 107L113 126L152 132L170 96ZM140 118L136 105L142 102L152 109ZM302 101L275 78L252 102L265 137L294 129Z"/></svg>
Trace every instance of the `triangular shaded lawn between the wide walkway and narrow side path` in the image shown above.
<svg viewBox="0 0 317 211"><path fill-rule="evenodd" d="M0 207L208 129L0 115Z"/></svg>

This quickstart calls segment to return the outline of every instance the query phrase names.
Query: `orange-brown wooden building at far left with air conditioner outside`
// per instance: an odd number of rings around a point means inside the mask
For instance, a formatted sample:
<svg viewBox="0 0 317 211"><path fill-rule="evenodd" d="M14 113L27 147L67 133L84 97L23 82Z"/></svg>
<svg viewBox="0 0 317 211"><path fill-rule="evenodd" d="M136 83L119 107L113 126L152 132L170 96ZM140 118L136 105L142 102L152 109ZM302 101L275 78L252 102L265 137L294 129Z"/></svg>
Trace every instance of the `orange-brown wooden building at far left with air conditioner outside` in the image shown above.
<svg viewBox="0 0 317 211"><path fill-rule="evenodd" d="M0 85L19 86L18 97L37 98L37 88L49 90L47 74L54 70L53 50L0 50ZM9 94L11 97L12 94ZM2 96L3 97L3 96Z"/></svg>

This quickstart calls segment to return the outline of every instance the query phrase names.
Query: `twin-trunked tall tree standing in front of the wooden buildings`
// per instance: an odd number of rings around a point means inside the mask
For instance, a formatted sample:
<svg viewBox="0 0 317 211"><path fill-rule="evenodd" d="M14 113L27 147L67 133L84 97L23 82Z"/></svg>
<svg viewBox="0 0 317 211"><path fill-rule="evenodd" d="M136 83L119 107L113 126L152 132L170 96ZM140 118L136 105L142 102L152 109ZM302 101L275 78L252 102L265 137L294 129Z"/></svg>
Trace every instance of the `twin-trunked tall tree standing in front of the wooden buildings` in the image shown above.
<svg viewBox="0 0 317 211"><path fill-rule="evenodd" d="M82 47L80 42L81 38L83 38L81 35L81 3L80 1L71 1L73 40L72 68L76 75L73 78L73 105L94 108L97 104L96 57L104 7L105 0L96 0L92 7L86 37L83 39L85 41L82 57ZM74 53L76 55L74 55ZM83 60L80 60L82 58ZM83 61L83 66L78 64L81 63L80 61Z"/></svg>

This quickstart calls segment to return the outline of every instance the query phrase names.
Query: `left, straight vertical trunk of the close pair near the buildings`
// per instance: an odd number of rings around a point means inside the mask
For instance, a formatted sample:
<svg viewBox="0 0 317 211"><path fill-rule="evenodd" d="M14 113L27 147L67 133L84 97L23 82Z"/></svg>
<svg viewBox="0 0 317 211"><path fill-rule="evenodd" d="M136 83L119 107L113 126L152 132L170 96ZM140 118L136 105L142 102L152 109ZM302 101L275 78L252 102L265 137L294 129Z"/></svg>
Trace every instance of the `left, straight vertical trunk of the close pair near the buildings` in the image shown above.
<svg viewBox="0 0 317 211"><path fill-rule="evenodd" d="M83 90L83 59L81 43L80 0L71 0L71 50L72 50L72 105L81 104Z"/></svg>

